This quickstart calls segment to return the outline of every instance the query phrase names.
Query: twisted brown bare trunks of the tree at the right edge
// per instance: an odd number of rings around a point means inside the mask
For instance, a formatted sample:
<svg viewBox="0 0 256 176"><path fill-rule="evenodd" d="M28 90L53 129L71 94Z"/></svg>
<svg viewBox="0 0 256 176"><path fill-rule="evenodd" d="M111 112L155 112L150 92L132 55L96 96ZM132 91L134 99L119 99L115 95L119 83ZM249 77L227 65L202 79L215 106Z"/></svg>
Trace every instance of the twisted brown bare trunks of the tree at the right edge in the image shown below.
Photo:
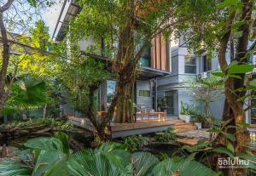
<svg viewBox="0 0 256 176"><path fill-rule="evenodd" d="M243 7L242 7L242 15L241 20L249 21L251 19L252 14L252 6L253 4L250 3L248 0L243 0ZM221 67L221 70L226 72L227 62L225 58L225 53L227 49L227 44L230 41L230 34L231 34L231 25L233 23L233 19L235 14L230 14L230 18L227 21L227 30L228 32L222 37L220 41L220 49L218 52L218 62ZM242 32L241 37L238 38L237 47L236 47L236 58L238 62L246 61L246 54L247 54L247 44L248 44L248 35L249 35L249 25L246 23L239 28L239 31ZM224 82L225 88L225 108L224 110L224 119L229 121L229 124L236 125L236 129L232 131L234 135L236 135L236 141L233 144L235 147L236 156L238 156L241 152L246 150L245 146L249 140L249 136L247 133L247 129L240 127L241 122L246 121L245 111L243 110L243 101L238 101L239 98L246 94L246 90L238 92L236 91L238 88L245 88L244 87L244 80L245 74L239 74L241 79L236 79L229 77ZM230 172L228 172L230 173ZM240 176L246 175L246 168L235 168L231 170L232 175Z"/></svg>

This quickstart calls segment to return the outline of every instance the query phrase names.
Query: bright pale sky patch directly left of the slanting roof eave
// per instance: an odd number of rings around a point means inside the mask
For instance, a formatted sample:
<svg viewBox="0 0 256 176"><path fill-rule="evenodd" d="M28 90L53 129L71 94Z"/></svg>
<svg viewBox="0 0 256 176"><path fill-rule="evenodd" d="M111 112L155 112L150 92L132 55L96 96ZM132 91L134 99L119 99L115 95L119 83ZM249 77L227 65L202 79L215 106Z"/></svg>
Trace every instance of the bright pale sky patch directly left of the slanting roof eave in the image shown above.
<svg viewBox="0 0 256 176"><path fill-rule="evenodd" d="M62 3L63 1L61 3L55 3L55 5L44 11L43 20L46 26L49 26L50 37L52 37L53 31L55 30L55 25L61 13Z"/></svg>

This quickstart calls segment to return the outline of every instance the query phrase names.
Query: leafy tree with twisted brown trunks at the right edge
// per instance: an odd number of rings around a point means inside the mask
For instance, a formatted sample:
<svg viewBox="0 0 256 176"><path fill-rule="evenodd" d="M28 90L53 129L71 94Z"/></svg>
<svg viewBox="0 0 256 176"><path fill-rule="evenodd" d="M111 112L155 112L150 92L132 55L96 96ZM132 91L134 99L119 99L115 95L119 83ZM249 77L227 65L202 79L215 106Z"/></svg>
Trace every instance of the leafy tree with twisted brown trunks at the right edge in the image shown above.
<svg viewBox="0 0 256 176"><path fill-rule="evenodd" d="M191 48L197 51L207 51L209 55L218 57L221 72L218 77L224 77L225 105L223 119L225 126L233 126L228 133L236 136L232 142L235 155L239 156L247 150L249 136L247 133L245 99L252 95L248 89L255 89L255 81L251 74L254 65L248 63L255 53L255 1L225 0L225 1L186 1L188 9L183 9L180 15L191 18L186 25L180 27ZM206 3L207 2L207 3ZM208 3L209 2L209 3ZM204 11L195 7L204 6ZM198 15L200 14L200 15ZM251 45L249 41L252 40ZM217 53L217 54L216 54ZM230 58L226 56L230 53ZM226 145L225 136L219 135L214 141L215 146ZM246 175L245 168L234 168L227 172L230 175Z"/></svg>

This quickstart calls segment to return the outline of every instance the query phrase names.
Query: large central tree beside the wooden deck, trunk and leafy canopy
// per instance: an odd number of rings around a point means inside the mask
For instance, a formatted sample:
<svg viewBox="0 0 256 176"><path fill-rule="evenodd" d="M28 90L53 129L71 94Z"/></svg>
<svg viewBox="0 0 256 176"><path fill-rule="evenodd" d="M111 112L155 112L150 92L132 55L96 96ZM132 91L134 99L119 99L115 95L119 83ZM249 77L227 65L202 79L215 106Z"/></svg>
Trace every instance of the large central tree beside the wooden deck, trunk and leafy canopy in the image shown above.
<svg viewBox="0 0 256 176"><path fill-rule="evenodd" d="M177 23L178 1L79 1L83 7L70 26L70 41L92 38L102 55L113 61L116 88L108 116L114 122L132 122L132 87L145 48L157 35Z"/></svg>

